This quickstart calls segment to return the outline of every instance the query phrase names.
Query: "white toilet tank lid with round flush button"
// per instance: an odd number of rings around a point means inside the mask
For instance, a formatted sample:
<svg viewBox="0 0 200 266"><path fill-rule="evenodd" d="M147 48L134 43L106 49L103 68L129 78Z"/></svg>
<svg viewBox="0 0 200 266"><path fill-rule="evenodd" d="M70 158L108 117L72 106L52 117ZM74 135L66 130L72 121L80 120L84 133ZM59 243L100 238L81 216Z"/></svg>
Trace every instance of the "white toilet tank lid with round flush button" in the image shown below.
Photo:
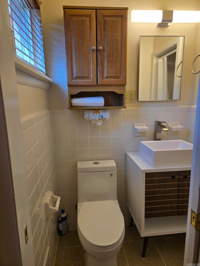
<svg viewBox="0 0 200 266"><path fill-rule="evenodd" d="M99 172L116 170L114 160L98 160L78 162L77 172Z"/></svg>

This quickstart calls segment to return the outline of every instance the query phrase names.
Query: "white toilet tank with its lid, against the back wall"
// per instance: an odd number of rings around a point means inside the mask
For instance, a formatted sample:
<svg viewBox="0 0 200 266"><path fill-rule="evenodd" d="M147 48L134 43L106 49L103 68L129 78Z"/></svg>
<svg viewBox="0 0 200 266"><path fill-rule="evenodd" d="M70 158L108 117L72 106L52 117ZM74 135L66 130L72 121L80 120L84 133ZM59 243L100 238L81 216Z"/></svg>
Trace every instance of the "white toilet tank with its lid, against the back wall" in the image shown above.
<svg viewBox="0 0 200 266"><path fill-rule="evenodd" d="M114 160L77 164L78 202L117 200L117 170Z"/></svg>

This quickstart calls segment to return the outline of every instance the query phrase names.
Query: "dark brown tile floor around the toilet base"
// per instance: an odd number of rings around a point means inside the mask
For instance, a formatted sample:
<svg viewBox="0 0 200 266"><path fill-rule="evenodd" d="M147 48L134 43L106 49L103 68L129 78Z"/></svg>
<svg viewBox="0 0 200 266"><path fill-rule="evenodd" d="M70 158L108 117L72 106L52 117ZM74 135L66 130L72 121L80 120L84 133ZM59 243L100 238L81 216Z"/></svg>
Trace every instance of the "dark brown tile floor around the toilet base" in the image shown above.
<svg viewBox="0 0 200 266"><path fill-rule="evenodd" d="M183 265L184 247L185 234L150 237L146 256L142 259L143 238L136 226L126 226L123 247L118 253L118 266ZM84 266L83 248L76 230L59 236L55 266Z"/></svg>

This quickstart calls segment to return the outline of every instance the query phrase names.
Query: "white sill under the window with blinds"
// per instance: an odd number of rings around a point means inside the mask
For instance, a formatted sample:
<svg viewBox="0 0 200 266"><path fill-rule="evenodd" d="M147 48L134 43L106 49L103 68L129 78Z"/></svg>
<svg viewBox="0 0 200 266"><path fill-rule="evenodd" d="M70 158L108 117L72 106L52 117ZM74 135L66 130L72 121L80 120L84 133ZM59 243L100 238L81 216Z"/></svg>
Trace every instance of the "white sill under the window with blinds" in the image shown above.
<svg viewBox="0 0 200 266"><path fill-rule="evenodd" d="M14 62L15 62L15 69L21 71L22 73L25 73L27 75L30 75L38 80L42 80L44 82L47 82L49 84L53 84L54 81L49 78L47 75L42 74L37 69L33 68L32 66L28 65L18 57L14 56Z"/></svg>

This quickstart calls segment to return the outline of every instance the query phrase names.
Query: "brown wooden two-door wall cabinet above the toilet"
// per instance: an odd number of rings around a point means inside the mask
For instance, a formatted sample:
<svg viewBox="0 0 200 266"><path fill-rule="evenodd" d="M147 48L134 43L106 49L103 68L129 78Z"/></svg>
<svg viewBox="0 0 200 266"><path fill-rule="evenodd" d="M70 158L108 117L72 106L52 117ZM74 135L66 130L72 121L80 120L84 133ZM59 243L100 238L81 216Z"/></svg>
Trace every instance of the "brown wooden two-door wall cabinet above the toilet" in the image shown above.
<svg viewBox="0 0 200 266"><path fill-rule="evenodd" d="M108 98L104 109L125 107L127 10L63 6L69 107L88 96Z"/></svg>

